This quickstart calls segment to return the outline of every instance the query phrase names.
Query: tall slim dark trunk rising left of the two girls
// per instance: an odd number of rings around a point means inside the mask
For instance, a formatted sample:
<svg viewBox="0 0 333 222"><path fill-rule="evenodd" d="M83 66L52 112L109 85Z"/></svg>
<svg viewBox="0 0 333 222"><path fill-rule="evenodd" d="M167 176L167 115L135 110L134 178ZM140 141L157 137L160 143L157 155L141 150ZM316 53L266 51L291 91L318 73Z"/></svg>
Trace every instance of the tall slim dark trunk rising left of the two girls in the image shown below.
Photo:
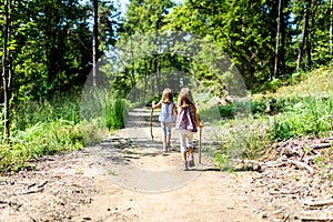
<svg viewBox="0 0 333 222"><path fill-rule="evenodd" d="M92 38L92 85L97 85L97 74L98 74L98 37L99 37L99 1L93 1L93 38Z"/></svg>

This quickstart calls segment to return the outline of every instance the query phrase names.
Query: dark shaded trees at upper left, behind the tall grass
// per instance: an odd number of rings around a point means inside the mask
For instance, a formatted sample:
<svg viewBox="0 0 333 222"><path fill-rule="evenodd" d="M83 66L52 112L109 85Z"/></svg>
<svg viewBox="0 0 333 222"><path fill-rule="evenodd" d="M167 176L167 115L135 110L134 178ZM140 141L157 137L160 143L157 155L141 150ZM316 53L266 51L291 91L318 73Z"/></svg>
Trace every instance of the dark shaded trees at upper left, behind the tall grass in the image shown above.
<svg viewBox="0 0 333 222"><path fill-rule="evenodd" d="M92 68L91 2L0 0L1 119L22 100L79 90ZM98 58L115 41L118 11L100 1ZM2 128L1 128L2 129Z"/></svg>

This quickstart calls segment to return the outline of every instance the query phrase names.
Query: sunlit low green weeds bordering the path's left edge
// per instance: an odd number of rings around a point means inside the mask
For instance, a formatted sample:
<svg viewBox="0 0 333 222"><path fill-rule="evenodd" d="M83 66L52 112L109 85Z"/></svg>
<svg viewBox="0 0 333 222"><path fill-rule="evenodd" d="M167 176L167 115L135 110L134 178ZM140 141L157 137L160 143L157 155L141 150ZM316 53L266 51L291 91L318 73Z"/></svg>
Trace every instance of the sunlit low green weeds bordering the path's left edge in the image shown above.
<svg viewBox="0 0 333 222"><path fill-rule="evenodd" d="M31 160L98 142L101 134L93 124L88 127L58 120L39 122L24 131L17 131L10 137L10 143L0 145L0 171L19 171L29 167Z"/></svg>

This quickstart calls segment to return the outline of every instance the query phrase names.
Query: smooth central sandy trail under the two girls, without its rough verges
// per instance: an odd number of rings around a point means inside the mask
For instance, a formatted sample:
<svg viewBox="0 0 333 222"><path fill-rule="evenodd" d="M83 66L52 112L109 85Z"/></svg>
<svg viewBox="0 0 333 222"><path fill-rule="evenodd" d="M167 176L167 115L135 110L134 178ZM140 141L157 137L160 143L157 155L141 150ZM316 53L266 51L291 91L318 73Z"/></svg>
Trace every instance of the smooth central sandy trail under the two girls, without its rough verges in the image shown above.
<svg viewBox="0 0 333 222"><path fill-rule="evenodd" d="M73 221L262 221L243 192L250 172L221 172L204 155L199 164L198 151L196 165L180 170L176 132L172 130L173 151L162 153L158 117L152 141L149 115L144 109L130 112L125 129L91 148L100 165L99 192Z"/></svg>

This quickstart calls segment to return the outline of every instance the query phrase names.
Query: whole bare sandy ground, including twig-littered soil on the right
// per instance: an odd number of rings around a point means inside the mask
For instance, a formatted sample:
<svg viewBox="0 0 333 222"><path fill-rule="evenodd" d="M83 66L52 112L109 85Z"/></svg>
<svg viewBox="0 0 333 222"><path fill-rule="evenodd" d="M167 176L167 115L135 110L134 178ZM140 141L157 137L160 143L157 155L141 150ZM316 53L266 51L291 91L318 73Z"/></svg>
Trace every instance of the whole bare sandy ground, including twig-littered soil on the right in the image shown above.
<svg viewBox="0 0 333 222"><path fill-rule="evenodd" d="M152 141L148 117L132 114L125 129L101 144L37 160L37 170L2 174L0 221L333 221L326 176L332 169L306 162L316 172L311 174L287 162L296 155L283 152L294 141L281 144L274 159L244 162L234 172L220 171L205 155L199 164L196 149L196 165L182 171L175 132L172 151L162 153L159 123ZM304 204L322 200L329 204Z"/></svg>

